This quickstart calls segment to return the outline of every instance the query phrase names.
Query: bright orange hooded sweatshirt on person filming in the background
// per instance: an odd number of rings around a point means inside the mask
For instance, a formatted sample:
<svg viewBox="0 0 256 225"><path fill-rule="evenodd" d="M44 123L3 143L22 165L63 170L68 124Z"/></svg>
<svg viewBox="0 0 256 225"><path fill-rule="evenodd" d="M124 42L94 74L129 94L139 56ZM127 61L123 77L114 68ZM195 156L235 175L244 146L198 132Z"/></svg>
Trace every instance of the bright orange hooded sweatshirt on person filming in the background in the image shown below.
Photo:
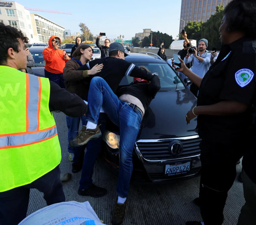
<svg viewBox="0 0 256 225"><path fill-rule="evenodd" d="M56 36L51 36L49 39L49 47L45 48L43 51L43 57L45 61L45 70L50 72L50 73L55 73L55 74L61 74L63 73L63 68L65 67L65 63L68 60L64 60L64 52L61 49L53 49L52 46L52 39L53 38L59 38ZM60 39L60 38L59 38Z"/></svg>

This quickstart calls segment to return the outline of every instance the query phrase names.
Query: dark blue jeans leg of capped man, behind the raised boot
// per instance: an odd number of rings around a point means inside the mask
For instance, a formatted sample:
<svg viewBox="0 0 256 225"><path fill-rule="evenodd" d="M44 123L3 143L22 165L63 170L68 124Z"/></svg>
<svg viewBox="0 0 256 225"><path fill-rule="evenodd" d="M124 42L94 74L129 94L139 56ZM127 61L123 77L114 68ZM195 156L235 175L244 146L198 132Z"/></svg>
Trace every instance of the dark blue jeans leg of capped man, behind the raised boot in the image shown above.
<svg viewBox="0 0 256 225"><path fill-rule="evenodd" d="M100 131L102 135L105 132L106 118L107 116L105 113L100 113L98 122L99 124L101 124ZM84 155L84 162L79 186L79 189L81 190L89 188L92 185L93 167L100 153L101 140L102 136L98 139L90 140L86 145L86 152Z"/></svg>

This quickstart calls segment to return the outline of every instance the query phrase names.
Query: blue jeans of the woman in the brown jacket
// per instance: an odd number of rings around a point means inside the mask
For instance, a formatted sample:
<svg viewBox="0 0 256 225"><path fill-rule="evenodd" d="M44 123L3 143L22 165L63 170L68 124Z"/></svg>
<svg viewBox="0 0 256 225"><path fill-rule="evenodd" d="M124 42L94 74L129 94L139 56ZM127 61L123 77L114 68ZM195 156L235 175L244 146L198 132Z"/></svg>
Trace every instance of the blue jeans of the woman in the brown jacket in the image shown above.
<svg viewBox="0 0 256 225"><path fill-rule="evenodd" d="M68 115L66 115L66 120L67 120L67 127L68 127L68 142L69 142L70 140L73 140L77 136L80 121L82 120L82 124L85 125L86 120L85 120L85 116L71 117ZM74 163L78 161L79 154L82 151L82 149L83 147L71 147L68 144L68 152L75 154L74 160L73 160Z"/></svg>

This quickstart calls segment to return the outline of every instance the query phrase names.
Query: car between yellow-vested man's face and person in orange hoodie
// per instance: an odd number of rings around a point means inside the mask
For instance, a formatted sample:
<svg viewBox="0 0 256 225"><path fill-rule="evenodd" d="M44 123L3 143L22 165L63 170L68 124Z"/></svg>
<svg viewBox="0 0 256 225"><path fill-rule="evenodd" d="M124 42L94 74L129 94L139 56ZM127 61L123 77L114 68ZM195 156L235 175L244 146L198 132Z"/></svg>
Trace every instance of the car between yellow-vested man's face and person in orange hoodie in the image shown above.
<svg viewBox="0 0 256 225"><path fill-rule="evenodd" d="M44 48L46 48L47 46L39 46L39 47L30 47L29 52L31 53L31 55L33 56L33 59L35 61L35 66L32 67L32 70L34 72L34 74L38 77L44 77L44 57L43 57L43 51Z"/></svg>

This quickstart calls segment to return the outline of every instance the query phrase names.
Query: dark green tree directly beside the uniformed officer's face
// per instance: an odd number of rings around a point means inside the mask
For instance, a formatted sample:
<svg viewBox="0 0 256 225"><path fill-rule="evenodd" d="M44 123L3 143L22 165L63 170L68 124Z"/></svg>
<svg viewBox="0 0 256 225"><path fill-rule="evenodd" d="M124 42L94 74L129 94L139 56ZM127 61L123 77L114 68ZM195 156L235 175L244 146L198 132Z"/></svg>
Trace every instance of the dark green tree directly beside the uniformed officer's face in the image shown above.
<svg viewBox="0 0 256 225"><path fill-rule="evenodd" d="M217 5L216 12L214 15L207 20L203 26L201 34L203 38L208 40L207 49L217 47L218 50L221 48L219 27L224 14L224 5Z"/></svg>

